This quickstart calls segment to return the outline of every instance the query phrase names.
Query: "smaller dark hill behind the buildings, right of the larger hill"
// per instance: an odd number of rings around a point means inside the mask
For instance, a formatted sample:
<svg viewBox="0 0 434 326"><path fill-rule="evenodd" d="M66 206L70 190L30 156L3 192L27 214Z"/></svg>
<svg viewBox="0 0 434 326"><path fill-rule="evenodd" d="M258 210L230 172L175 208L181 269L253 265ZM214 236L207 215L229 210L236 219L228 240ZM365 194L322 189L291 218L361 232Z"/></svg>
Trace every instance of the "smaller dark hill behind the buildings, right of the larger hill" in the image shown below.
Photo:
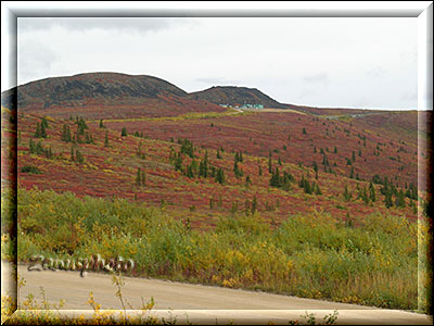
<svg viewBox="0 0 434 326"><path fill-rule="evenodd" d="M263 104L265 108L285 109L286 104L279 103L256 88L217 86L189 95L194 100L205 100L215 104Z"/></svg>

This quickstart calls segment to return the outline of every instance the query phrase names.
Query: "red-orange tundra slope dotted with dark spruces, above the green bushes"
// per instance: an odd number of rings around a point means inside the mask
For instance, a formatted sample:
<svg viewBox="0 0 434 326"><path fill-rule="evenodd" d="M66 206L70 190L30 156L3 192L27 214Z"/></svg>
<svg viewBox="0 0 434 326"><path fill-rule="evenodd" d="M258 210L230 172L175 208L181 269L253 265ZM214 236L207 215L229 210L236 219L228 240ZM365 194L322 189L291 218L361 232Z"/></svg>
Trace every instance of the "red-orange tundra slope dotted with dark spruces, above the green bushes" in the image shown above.
<svg viewBox="0 0 434 326"><path fill-rule="evenodd" d="M18 184L163 203L203 228L248 210L271 225L309 208L356 224L371 213L414 221L424 195L412 143L379 145L372 134L346 136L344 123L298 116L284 113L278 124L275 113L125 122L20 114ZM332 126L342 136L322 137Z"/></svg>

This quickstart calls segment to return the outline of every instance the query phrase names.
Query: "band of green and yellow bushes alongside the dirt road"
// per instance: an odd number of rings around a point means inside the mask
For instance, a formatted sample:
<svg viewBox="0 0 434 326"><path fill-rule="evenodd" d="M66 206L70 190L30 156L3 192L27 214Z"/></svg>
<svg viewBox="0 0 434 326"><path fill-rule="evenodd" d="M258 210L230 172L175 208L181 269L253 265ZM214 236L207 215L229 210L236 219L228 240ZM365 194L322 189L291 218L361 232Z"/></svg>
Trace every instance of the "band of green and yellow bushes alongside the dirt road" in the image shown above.
<svg viewBox="0 0 434 326"><path fill-rule="evenodd" d="M271 228L257 213L234 214L201 231L174 211L123 199L37 189L17 196L18 261L99 253L132 259L133 276L418 310L423 229L404 216L373 214L349 227L312 210ZM10 238L2 237L2 248L3 241Z"/></svg>

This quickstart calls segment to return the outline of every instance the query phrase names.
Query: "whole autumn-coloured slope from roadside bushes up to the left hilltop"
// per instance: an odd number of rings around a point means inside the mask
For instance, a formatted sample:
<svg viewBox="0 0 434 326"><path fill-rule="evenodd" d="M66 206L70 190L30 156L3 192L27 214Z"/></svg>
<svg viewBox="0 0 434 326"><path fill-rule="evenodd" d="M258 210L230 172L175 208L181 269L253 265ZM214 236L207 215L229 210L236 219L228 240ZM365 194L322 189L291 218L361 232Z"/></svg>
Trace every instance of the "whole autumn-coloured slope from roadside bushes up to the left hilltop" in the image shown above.
<svg viewBox="0 0 434 326"><path fill-rule="evenodd" d="M21 260L122 254L135 275L417 308L416 112L226 111L159 79L71 78L35 82L2 128Z"/></svg>

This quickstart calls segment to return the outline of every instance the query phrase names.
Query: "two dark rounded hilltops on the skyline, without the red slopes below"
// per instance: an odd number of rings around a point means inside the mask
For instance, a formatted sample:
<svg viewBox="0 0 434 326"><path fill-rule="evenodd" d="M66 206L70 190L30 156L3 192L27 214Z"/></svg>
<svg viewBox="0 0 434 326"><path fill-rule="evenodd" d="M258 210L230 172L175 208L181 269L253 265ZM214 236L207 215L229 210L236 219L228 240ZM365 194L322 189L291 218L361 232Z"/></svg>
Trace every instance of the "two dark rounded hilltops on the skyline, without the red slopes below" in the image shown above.
<svg viewBox="0 0 434 326"><path fill-rule="evenodd" d="M217 92L217 93L216 93ZM229 100L224 100L227 98ZM131 75L115 72L80 73L69 76L47 77L15 86L2 92L2 105L11 108L14 99L23 110L43 110L50 106L81 106L85 102L123 100L127 104L141 100L206 101L213 104L263 104L285 109L257 88L213 86L202 91L187 92L163 78L151 75ZM216 110L216 108L214 108ZM213 111L213 110L212 110Z"/></svg>

